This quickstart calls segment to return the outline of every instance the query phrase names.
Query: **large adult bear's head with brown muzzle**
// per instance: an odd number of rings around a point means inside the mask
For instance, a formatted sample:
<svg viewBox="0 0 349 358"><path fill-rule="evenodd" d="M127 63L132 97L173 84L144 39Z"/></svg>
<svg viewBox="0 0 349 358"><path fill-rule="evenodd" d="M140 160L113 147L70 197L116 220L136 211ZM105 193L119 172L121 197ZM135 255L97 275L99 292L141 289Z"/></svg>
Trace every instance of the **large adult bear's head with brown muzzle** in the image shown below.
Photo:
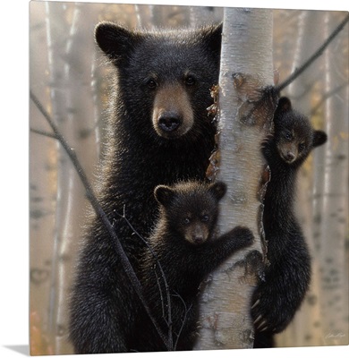
<svg viewBox="0 0 349 358"><path fill-rule="evenodd" d="M98 46L118 69L130 117L142 130L166 140L208 125L210 89L218 81L221 26L201 30L126 30L110 22L96 28ZM132 113L142 108L141 113Z"/></svg>

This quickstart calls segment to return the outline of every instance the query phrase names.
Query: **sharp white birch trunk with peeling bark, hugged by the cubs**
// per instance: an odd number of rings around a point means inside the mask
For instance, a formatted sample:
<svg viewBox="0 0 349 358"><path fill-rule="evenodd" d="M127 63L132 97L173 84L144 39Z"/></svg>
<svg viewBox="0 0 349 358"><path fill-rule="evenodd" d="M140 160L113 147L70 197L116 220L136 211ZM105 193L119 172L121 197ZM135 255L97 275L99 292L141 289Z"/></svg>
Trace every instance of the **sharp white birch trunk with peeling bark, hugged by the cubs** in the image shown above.
<svg viewBox="0 0 349 358"><path fill-rule="evenodd" d="M196 349L253 345L251 294L262 263L259 253L264 252L260 242L259 192L264 169L260 143L270 129L275 108L275 98L265 98L263 88L272 81L272 12L226 8L219 79L217 179L226 182L228 189L218 226L220 233L237 225L248 226L255 243L209 277L201 297ZM252 254L246 258L249 251Z"/></svg>

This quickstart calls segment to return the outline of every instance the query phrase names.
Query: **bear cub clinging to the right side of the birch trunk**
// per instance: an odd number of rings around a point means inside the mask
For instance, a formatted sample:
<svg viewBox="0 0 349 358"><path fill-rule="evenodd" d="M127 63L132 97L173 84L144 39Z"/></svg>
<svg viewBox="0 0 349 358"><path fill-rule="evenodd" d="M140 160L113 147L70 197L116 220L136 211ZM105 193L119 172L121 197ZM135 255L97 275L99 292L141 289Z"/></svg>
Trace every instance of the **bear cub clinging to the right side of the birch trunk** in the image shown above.
<svg viewBox="0 0 349 358"><path fill-rule="evenodd" d="M294 318L309 287L311 257L294 214L296 176L311 149L326 141L327 134L315 131L288 98L279 99L274 134L262 147L271 173L263 215L270 265L252 301L254 347L273 345L274 334Z"/></svg>

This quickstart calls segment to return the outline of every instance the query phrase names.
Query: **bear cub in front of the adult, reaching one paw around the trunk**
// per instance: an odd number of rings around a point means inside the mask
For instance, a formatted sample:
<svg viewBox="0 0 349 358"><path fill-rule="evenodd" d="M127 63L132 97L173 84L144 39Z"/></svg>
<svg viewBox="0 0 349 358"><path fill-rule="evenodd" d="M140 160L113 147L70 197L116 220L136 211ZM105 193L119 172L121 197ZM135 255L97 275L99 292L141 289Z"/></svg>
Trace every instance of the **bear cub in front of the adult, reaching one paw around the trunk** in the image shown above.
<svg viewBox="0 0 349 358"><path fill-rule="evenodd" d="M225 193L222 182L185 182L155 189L160 216L142 261L141 282L150 311L166 337L171 335L175 350L192 350L195 343L200 282L253 241L251 230L243 226L215 238L218 201ZM135 350L166 350L146 314L137 327Z"/></svg>

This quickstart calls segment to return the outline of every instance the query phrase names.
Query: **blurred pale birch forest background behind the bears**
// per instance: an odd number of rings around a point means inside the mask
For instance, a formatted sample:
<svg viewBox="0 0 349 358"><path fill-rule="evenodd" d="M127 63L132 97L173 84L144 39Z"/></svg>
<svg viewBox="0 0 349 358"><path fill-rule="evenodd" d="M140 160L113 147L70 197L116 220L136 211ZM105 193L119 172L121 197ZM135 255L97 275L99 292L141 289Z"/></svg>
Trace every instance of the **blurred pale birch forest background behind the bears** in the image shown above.
<svg viewBox="0 0 349 358"><path fill-rule="evenodd" d="M98 21L130 28L197 26L223 8L30 3L30 90L93 183L103 149L110 67L94 43ZM284 81L328 38L344 12L273 10L274 68ZM348 25L283 92L328 132L299 178L298 213L313 257L302 309L279 346L348 344ZM72 162L30 103L30 353L69 354L67 301L89 205ZM273 309L272 307L270 308Z"/></svg>

